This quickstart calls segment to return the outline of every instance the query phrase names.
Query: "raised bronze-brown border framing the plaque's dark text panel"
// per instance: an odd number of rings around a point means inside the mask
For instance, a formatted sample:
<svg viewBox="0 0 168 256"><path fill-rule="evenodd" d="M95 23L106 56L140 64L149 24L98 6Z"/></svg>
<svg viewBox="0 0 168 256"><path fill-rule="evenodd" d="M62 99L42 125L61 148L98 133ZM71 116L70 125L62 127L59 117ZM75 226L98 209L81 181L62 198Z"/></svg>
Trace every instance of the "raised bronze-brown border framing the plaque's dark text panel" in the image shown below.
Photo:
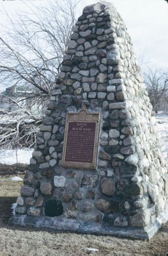
<svg viewBox="0 0 168 256"><path fill-rule="evenodd" d="M93 148L93 162L92 163L81 163L81 162L79 163L79 162L65 161L69 122L93 122L93 123L96 123L95 141L94 141L94 148ZM100 113L89 113L86 109L82 109L78 113L67 113L66 125L65 125L65 137L64 137L64 145L63 145L62 166L66 167L66 168L95 170L96 162L97 162L97 154L98 154L99 130L100 130Z"/></svg>

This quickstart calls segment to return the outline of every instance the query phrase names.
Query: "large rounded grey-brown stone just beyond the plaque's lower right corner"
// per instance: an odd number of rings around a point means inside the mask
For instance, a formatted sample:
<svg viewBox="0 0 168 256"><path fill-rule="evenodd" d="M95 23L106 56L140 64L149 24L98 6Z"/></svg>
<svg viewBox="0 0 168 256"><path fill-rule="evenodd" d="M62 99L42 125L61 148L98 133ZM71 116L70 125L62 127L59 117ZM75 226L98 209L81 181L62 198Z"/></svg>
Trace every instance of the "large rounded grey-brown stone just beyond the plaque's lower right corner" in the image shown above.
<svg viewBox="0 0 168 256"><path fill-rule="evenodd" d="M112 196L115 192L114 180L111 178L103 178L100 184L102 193L107 196Z"/></svg>

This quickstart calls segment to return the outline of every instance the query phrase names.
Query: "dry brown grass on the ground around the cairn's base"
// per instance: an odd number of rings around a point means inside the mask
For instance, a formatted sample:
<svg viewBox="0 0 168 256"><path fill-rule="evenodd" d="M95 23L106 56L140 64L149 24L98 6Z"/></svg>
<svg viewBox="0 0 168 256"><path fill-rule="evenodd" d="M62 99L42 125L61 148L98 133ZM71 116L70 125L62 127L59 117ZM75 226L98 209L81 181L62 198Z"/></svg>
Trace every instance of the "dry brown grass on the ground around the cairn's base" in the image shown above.
<svg viewBox="0 0 168 256"><path fill-rule="evenodd" d="M82 256L88 255L84 251L86 247L97 248L97 256L167 255L168 224L149 242L10 227L10 205L16 201L21 184L10 181L6 176L0 177L0 256Z"/></svg>

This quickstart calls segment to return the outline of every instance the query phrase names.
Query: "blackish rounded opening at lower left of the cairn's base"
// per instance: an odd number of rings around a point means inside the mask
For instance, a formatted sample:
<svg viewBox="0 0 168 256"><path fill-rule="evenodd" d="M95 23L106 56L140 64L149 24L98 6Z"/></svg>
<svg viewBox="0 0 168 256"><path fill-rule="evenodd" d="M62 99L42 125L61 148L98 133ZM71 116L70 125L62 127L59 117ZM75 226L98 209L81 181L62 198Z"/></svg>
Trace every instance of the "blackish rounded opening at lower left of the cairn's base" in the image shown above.
<svg viewBox="0 0 168 256"><path fill-rule="evenodd" d="M50 217L63 214L63 204L59 200L49 200L45 203L45 215Z"/></svg>

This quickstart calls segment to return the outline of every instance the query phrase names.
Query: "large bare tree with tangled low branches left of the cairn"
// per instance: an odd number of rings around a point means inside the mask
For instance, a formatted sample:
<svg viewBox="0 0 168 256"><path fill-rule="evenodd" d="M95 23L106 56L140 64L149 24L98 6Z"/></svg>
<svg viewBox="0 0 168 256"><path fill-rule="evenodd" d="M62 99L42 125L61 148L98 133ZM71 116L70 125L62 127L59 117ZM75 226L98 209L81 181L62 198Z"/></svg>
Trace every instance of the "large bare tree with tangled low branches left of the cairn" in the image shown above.
<svg viewBox="0 0 168 256"><path fill-rule="evenodd" d="M16 88L15 108L0 110L0 145L33 146L75 24L76 0L26 3L29 12L15 22L6 12L11 29L0 37L0 83Z"/></svg>

